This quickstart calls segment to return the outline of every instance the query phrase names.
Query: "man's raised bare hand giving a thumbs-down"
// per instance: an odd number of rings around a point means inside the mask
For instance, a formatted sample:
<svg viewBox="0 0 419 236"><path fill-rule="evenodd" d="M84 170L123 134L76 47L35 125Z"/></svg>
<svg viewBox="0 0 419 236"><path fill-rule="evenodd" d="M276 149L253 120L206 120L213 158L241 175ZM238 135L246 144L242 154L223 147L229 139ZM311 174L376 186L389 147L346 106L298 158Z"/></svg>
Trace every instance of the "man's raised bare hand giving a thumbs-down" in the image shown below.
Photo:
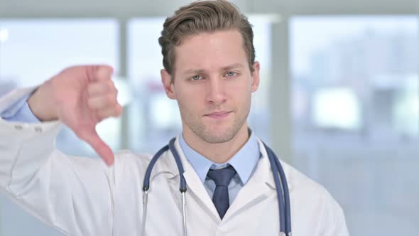
<svg viewBox="0 0 419 236"><path fill-rule="evenodd" d="M29 107L41 121L60 119L111 165L114 154L96 132L97 123L118 117L122 107L107 65L75 66L62 70L38 87L28 99Z"/></svg>

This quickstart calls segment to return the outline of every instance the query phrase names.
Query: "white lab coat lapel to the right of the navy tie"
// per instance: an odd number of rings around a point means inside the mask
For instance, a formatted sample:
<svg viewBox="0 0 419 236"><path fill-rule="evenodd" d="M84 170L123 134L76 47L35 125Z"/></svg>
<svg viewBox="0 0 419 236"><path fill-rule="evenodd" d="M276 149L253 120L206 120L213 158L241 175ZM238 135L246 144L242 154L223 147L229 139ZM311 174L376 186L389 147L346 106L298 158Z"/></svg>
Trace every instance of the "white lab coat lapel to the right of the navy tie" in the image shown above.
<svg viewBox="0 0 419 236"><path fill-rule="evenodd" d="M259 139L258 141L262 156L257 163L256 171L254 171L253 176L249 178L249 181L237 194L236 199L230 205L226 215L224 215L223 222L227 222L229 218L242 213L244 208L249 208L251 205L260 203L262 200L268 198L269 195L276 193L271 163L269 162L265 147Z"/></svg>

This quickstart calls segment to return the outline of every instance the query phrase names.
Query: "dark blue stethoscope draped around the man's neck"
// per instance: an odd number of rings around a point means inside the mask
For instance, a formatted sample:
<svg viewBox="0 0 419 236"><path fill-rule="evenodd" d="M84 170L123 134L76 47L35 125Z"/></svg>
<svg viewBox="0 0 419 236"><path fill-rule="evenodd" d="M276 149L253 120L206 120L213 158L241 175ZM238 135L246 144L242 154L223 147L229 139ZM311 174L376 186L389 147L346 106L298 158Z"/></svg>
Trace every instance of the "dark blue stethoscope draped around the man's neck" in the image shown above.
<svg viewBox="0 0 419 236"><path fill-rule="evenodd" d="M266 144L263 143L265 146L266 153L268 154L269 162L271 163L271 169L273 174L273 180L275 181L276 186L276 194L278 195L278 210L279 210L279 225L280 225L280 236L291 236L291 213L290 213L290 194L288 191L288 184L285 178L285 173L283 171L282 165L279 162L279 159L273 153L272 149L270 149ZM182 225L183 225L183 236L187 236L186 232L186 202L185 202L185 193L187 191L186 188L186 181L185 177L183 176L183 165L182 161L180 161L180 156L178 151L175 148L175 138L170 140L169 144L163 146L156 155L153 156L150 163L148 164L146 174L144 176L144 183L143 183L143 232L141 235L145 235L146 230L146 219L147 219L147 202L148 202L148 191L150 191L150 176L151 171L153 170L154 164L160 158L160 156L165 152L170 151L175 158L176 165L178 166L179 176L180 176L180 194L182 195Z"/></svg>

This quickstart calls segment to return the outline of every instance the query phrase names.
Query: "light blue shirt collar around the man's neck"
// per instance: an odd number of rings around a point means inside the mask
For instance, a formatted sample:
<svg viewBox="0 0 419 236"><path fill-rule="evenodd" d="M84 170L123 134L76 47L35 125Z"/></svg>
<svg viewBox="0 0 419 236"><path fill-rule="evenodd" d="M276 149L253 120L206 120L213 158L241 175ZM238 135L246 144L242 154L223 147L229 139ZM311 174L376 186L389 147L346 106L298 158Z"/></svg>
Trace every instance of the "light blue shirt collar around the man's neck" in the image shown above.
<svg viewBox="0 0 419 236"><path fill-rule="evenodd" d="M243 147L231 158L227 163L214 163L213 161L207 159L205 156L197 153L194 149L192 149L183 139L183 135L180 135L179 144L182 148L183 153L186 156L187 161L189 161L192 167L197 172L197 175L200 177L202 183L205 182L205 178L207 178L207 173L209 168L219 168L227 166L227 164L234 167L241 183L245 184L249 181L251 173L253 172L256 163L261 156L259 151L259 143L256 139L256 136L253 132L250 132L250 137L246 141Z"/></svg>

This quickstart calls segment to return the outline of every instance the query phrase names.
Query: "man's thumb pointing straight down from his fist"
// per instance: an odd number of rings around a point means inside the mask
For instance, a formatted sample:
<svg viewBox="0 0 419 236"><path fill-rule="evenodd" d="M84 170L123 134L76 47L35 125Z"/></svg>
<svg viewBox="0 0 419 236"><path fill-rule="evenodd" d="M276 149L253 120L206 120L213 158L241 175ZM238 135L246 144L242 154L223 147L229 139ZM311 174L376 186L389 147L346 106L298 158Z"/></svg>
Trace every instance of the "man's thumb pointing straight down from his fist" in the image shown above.
<svg viewBox="0 0 419 236"><path fill-rule="evenodd" d="M114 153L111 148L99 137L96 130L83 132L80 134L80 139L86 141L87 144L92 146L94 151L96 151L96 153L105 163L107 163L108 166L111 166L114 163Z"/></svg>

